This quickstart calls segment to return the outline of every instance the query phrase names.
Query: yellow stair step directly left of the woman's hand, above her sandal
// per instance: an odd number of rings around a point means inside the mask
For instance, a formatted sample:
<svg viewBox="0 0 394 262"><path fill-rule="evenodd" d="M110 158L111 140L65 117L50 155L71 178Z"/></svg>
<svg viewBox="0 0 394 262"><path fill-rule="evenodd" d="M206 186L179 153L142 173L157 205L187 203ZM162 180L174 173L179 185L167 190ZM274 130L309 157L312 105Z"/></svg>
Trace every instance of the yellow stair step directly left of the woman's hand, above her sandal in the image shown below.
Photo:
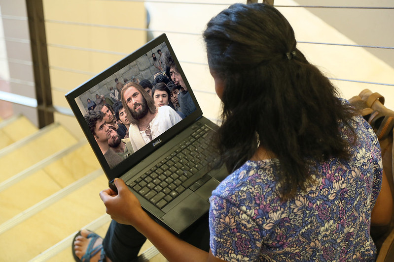
<svg viewBox="0 0 394 262"><path fill-rule="evenodd" d="M106 186L98 170L1 224L2 261L29 261L105 214L98 193Z"/></svg>

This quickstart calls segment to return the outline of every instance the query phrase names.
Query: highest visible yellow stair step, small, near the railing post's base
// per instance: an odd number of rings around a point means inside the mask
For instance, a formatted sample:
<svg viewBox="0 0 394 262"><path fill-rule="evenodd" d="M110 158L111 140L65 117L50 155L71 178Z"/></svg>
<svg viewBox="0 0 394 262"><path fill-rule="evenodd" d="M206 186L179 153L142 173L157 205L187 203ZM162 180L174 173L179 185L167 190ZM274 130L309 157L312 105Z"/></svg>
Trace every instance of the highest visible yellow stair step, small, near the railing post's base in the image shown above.
<svg viewBox="0 0 394 262"><path fill-rule="evenodd" d="M12 116L0 122L0 149L33 133L38 128L25 116Z"/></svg>

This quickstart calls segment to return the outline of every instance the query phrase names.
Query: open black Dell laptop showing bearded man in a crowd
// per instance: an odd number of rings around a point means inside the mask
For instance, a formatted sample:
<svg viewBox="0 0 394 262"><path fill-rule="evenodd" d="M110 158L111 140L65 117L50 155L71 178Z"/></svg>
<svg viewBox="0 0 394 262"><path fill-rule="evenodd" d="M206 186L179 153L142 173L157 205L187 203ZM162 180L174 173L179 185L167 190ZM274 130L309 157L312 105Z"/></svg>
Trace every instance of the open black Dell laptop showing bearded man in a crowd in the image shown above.
<svg viewBox="0 0 394 262"><path fill-rule="evenodd" d="M143 87L171 78L164 87ZM202 116L165 34L66 99L108 181L123 179L158 223L181 234L208 212L212 191L228 175L209 168L215 157L209 137L217 126Z"/></svg>

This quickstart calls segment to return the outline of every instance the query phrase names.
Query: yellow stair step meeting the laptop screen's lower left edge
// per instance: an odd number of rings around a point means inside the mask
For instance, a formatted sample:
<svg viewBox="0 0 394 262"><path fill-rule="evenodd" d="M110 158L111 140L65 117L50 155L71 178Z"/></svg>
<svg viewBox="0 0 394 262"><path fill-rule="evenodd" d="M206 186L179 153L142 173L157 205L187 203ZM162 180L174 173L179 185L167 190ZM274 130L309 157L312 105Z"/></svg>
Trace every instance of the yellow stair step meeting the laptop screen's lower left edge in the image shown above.
<svg viewBox="0 0 394 262"><path fill-rule="evenodd" d="M88 149L80 142L0 183L0 224L96 170L98 162Z"/></svg>

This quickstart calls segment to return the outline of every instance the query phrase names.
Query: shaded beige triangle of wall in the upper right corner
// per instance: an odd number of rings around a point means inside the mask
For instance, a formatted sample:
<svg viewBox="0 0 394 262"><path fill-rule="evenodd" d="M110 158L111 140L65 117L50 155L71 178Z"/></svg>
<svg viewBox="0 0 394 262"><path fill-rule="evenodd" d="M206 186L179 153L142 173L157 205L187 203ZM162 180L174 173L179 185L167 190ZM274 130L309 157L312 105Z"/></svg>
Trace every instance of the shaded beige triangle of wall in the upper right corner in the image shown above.
<svg viewBox="0 0 394 262"><path fill-rule="evenodd" d="M295 0L300 5L394 7L393 0ZM394 9L307 8L358 45L394 48ZM366 48L394 67L394 49Z"/></svg>

